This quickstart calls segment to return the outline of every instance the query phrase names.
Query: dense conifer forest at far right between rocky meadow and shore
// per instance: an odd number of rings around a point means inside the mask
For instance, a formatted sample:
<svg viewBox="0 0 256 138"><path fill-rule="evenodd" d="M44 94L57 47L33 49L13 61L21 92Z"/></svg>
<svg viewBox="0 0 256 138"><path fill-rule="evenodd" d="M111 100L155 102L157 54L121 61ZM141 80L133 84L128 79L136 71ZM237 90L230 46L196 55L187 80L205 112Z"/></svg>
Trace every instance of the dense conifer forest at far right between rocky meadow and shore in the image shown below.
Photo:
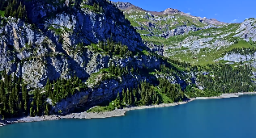
<svg viewBox="0 0 256 138"><path fill-rule="evenodd" d="M198 82L205 87L219 93L236 93L256 90L252 82L252 70L249 65L232 68L226 64L208 65L204 68L207 73L198 75Z"/></svg>

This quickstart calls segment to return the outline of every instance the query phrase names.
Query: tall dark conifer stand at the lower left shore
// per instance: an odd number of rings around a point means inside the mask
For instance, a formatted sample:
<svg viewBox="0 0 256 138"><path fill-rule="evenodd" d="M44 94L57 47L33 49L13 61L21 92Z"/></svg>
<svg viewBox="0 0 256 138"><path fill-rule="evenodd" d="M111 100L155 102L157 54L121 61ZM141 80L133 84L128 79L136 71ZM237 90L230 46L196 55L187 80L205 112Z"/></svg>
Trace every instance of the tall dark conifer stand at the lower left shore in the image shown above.
<svg viewBox="0 0 256 138"><path fill-rule="evenodd" d="M49 115L49 103L41 90L28 92L27 85L21 77L5 73L0 80L0 115L3 118L19 117L23 115ZM30 93L30 94L29 94Z"/></svg>

